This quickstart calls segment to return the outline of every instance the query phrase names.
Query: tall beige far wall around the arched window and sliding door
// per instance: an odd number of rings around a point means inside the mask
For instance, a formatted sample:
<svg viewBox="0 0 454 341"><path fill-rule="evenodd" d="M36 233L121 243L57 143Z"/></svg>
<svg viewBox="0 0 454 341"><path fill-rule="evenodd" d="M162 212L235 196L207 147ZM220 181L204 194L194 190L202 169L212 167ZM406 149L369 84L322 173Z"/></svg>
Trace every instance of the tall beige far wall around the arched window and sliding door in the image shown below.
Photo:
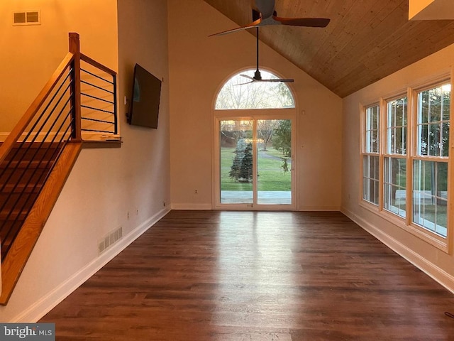
<svg viewBox="0 0 454 341"><path fill-rule="evenodd" d="M214 98L228 77L255 67L255 37L208 37L237 25L201 0L168 3L172 207L206 209L214 185ZM341 99L263 44L260 65L295 80L299 210L338 210Z"/></svg>

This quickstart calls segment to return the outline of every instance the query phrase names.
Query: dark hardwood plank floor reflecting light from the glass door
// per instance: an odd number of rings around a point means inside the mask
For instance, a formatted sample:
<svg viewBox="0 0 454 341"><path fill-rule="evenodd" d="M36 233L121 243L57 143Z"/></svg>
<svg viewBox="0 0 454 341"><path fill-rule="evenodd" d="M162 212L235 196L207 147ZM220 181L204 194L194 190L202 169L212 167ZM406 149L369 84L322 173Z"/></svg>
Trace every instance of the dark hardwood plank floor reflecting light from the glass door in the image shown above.
<svg viewBox="0 0 454 341"><path fill-rule="evenodd" d="M454 296L339 212L172 211L40 322L57 340L454 340Z"/></svg>

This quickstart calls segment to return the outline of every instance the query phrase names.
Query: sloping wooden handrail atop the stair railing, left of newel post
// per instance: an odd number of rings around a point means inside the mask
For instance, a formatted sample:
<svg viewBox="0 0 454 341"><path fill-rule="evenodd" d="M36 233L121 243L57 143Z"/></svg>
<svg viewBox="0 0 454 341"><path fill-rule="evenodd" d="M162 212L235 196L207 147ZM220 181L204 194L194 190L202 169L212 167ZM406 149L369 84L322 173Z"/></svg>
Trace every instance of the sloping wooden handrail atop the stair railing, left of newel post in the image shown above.
<svg viewBox="0 0 454 341"><path fill-rule="evenodd" d="M55 70L52 77L50 77L50 80L44 85L43 90L41 90L38 94L38 97L36 97L30 107L28 107L26 113L23 114L23 117L21 117L18 124L14 126L11 133L6 136L4 143L0 146L0 163L4 161L9 151L11 151L14 144L16 144L18 138L21 136L23 131L25 131L28 124L30 124L33 117L35 117L35 114L38 112L45 100L48 99L50 93L57 85L57 82L65 74L65 70L70 66L73 59L74 55L72 53L67 53L65 58L62 60L62 63L58 65L57 70Z"/></svg>

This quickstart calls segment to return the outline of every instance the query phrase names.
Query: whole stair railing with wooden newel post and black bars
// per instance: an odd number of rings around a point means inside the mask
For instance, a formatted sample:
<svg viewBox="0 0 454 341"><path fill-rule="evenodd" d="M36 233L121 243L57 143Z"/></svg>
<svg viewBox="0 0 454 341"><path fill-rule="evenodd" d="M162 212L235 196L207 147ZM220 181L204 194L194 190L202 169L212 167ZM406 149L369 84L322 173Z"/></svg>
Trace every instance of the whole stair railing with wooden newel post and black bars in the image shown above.
<svg viewBox="0 0 454 341"><path fill-rule="evenodd" d="M69 45L69 53L0 146L1 259L63 148L81 142L84 131L118 134L116 72L80 53L79 34L70 33Z"/></svg>

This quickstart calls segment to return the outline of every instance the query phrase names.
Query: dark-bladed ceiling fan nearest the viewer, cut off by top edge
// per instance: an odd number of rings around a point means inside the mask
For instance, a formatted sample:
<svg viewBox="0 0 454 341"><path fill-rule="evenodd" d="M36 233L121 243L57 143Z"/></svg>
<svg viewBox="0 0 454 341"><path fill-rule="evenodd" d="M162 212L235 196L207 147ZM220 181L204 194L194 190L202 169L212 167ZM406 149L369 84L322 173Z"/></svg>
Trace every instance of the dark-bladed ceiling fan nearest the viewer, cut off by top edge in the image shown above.
<svg viewBox="0 0 454 341"><path fill-rule="evenodd" d="M248 28L267 25L289 25L304 27L326 27L330 21L328 18L281 18L275 11L275 0L252 0L253 22L248 25L233 28L228 31L211 34L210 36L222 36L227 33L246 30ZM255 3L255 4L254 4Z"/></svg>

